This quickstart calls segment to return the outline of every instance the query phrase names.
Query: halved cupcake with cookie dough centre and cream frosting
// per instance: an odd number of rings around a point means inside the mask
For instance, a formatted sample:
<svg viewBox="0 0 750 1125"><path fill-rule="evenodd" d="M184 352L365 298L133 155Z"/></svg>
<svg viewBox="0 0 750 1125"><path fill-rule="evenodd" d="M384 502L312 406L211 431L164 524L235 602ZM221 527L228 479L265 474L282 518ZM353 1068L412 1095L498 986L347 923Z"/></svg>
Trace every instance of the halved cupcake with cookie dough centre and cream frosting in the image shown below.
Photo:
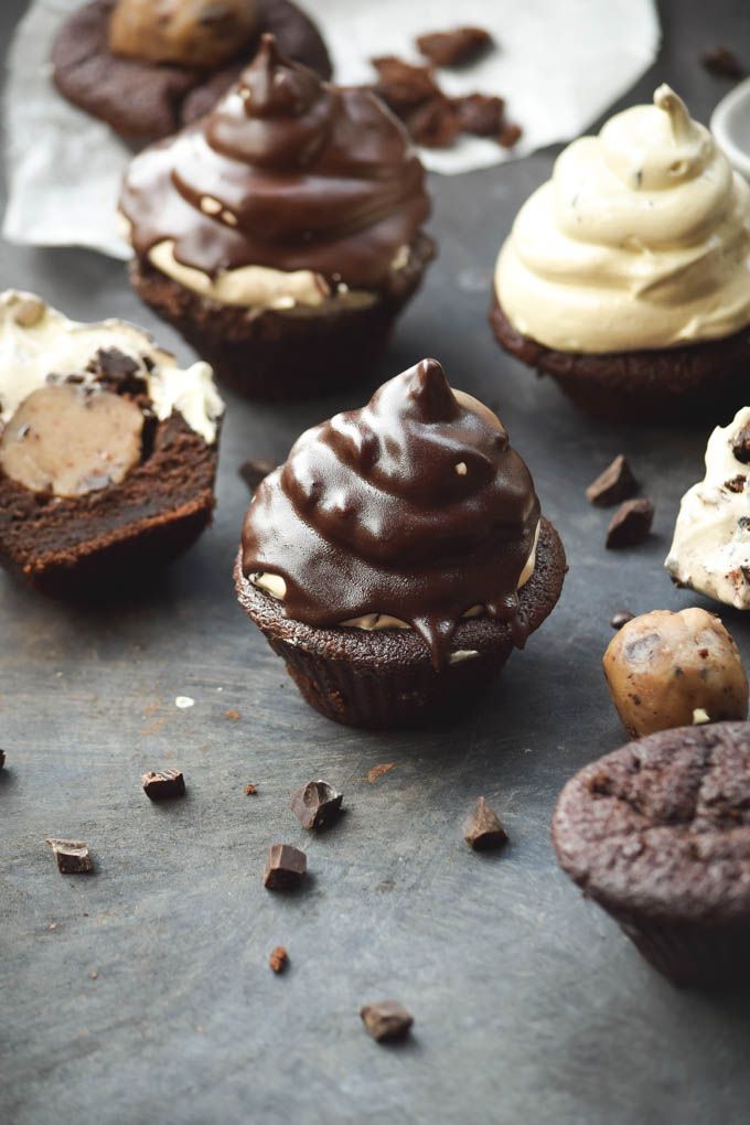
<svg viewBox="0 0 750 1125"><path fill-rule="evenodd" d="M223 410L134 325L0 294L0 562L58 595L148 582L210 522Z"/></svg>

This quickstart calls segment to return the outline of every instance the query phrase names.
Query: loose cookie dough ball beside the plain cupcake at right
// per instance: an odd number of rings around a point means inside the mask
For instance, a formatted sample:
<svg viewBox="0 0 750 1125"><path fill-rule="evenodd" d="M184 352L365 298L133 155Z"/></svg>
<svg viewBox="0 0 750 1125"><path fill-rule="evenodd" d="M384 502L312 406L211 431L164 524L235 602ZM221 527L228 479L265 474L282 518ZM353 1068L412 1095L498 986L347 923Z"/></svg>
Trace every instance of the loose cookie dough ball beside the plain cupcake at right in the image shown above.
<svg viewBox="0 0 750 1125"><path fill-rule="evenodd" d="M737 645L705 610L633 618L604 654L604 674L634 738L748 714L748 677Z"/></svg>

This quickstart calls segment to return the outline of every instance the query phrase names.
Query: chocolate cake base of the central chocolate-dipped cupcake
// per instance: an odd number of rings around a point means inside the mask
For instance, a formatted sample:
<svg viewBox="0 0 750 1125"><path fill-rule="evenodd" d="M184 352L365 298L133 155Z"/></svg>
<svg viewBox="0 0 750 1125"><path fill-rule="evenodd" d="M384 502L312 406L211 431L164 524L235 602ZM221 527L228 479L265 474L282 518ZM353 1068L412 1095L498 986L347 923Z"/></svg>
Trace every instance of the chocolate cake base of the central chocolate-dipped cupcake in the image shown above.
<svg viewBox="0 0 750 1125"><path fill-rule="evenodd" d="M560 538L542 520L534 573L519 592L531 631L560 597L566 556ZM336 722L354 727L425 726L470 706L513 651L510 627L488 616L462 620L453 639L458 656L441 672L412 629L316 629L283 614L281 602L234 569L240 604L262 629L307 702Z"/></svg>

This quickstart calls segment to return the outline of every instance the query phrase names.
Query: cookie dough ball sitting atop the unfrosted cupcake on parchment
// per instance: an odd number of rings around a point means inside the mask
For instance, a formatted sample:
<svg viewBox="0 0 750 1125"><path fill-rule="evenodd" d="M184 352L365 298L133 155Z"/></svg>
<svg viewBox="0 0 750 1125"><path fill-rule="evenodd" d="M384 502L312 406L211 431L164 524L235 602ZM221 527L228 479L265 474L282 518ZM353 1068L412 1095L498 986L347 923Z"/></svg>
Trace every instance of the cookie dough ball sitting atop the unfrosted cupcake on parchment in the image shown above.
<svg viewBox="0 0 750 1125"><path fill-rule="evenodd" d="M255 0L118 0L114 54L206 70L220 66L256 30Z"/></svg>

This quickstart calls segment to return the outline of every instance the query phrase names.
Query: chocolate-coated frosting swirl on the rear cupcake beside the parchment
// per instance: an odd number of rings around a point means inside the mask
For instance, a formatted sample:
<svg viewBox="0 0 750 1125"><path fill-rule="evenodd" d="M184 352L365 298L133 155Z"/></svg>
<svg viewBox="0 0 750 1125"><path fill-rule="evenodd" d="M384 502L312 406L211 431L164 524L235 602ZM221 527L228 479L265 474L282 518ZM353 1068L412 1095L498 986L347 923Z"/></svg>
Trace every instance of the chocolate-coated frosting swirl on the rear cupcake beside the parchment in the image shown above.
<svg viewBox="0 0 750 1125"><path fill-rule="evenodd" d="M142 258L170 240L211 278L266 266L376 289L430 213L390 111L289 62L270 35L213 112L133 161L120 206Z"/></svg>

